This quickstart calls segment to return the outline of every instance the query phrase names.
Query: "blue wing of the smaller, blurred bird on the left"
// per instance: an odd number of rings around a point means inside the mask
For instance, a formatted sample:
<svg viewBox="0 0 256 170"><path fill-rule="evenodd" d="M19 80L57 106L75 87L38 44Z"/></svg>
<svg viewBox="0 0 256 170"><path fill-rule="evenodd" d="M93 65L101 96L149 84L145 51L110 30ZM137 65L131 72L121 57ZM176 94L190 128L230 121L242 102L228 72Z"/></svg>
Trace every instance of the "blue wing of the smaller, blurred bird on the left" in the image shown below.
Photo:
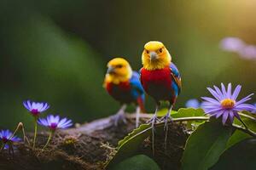
<svg viewBox="0 0 256 170"><path fill-rule="evenodd" d="M132 76L130 79L130 84L132 87L132 93L138 97L138 96L142 96L143 100L145 99L144 97L144 90L143 90L143 86L140 82L140 75L137 73L137 71L133 71L132 72Z"/></svg>

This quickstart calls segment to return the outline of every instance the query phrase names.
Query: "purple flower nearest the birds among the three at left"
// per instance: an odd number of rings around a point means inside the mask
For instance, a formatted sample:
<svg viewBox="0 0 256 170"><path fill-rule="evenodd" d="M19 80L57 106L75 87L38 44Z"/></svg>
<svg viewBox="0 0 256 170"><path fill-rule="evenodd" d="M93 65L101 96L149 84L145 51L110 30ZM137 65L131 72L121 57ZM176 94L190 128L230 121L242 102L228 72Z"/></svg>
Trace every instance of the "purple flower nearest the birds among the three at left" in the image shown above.
<svg viewBox="0 0 256 170"><path fill-rule="evenodd" d="M67 128L73 125L70 119L66 117L61 119L60 116L49 115L46 118L39 118L38 124L49 127L51 130L56 130L57 128Z"/></svg>

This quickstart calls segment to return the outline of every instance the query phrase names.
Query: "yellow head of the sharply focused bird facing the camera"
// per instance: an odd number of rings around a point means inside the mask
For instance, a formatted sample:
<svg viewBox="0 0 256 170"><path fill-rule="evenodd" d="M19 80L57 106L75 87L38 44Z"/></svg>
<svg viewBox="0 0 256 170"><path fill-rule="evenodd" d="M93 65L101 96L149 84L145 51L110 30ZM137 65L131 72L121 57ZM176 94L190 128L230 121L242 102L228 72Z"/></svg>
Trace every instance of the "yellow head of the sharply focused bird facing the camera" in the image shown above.
<svg viewBox="0 0 256 170"><path fill-rule="evenodd" d="M153 71L169 66L172 57L162 42L151 41L144 46L142 60L143 68Z"/></svg>

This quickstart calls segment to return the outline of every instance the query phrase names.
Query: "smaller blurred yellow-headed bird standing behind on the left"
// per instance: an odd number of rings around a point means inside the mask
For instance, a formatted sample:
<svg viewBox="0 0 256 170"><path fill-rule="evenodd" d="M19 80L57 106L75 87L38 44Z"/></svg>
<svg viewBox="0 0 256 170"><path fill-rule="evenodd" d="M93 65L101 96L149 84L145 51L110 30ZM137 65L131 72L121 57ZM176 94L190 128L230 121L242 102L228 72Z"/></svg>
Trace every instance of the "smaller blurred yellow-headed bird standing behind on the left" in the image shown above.
<svg viewBox="0 0 256 170"><path fill-rule="evenodd" d="M114 125L125 120L126 105L137 105L136 127L139 122L139 113L144 112L144 91L139 81L139 74L131 70L130 64L123 58L114 58L108 62L108 71L105 76L103 87L113 99L122 105L120 110L113 116Z"/></svg>

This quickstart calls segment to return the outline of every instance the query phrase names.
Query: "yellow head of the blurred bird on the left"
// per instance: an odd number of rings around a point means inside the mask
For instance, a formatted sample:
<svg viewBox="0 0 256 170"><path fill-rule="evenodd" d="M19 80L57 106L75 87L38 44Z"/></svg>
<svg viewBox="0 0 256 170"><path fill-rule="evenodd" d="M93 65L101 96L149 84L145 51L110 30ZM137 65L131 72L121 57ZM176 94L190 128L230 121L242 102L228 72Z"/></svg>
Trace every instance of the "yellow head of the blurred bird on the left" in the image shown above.
<svg viewBox="0 0 256 170"><path fill-rule="evenodd" d="M131 66L123 58L114 58L108 62L108 71L105 77L105 82L119 82L128 81L132 76Z"/></svg>

